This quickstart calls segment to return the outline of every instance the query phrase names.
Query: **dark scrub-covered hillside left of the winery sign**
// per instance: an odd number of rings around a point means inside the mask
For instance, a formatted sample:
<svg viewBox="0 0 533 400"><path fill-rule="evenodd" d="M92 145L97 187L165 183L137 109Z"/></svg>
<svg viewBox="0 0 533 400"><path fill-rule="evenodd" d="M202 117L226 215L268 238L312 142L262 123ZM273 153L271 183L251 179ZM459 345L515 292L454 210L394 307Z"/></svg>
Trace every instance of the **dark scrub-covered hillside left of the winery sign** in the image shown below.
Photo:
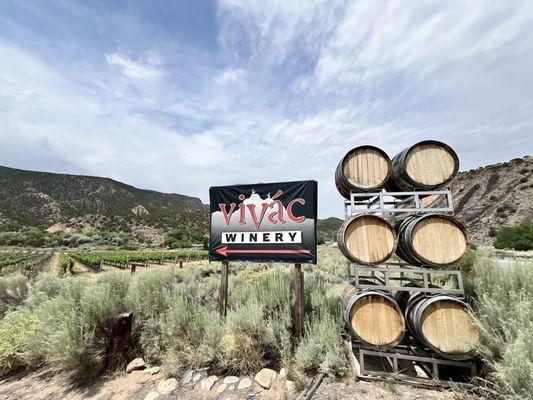
<svg viewBox="0 0 533 400"><path fill-rule="evenodd" d="M207 224L200 199L108 178L0 166L0 222L50 230L158 229Z"/></svg>

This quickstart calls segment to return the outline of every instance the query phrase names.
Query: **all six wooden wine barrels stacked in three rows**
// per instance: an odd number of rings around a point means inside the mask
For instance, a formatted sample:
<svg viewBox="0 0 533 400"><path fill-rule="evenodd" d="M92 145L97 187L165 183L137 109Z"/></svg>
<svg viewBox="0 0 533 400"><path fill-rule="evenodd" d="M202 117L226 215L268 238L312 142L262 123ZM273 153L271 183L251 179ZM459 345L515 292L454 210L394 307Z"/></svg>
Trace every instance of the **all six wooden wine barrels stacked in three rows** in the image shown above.
<svg viewBox="0 0 533 400"><path fill-rule="evenodd" d="M350 150L335 171L339 193L385 189L405 198L415 191L432 191L448 185L456 176L459 160L448 145L426 140L398 153L392 160L374 146ZM365 198L365 196L358 196ZM401 207L401 202L398 207ZM387 213L368 210L350 215L338 232L338 246L352 263L375 266L393 254L415 268L439 269L455 265L470 247L468 233L453 216L426 213ZM449 294L427 295L402 288L396 293L380 289L360 290L346 286L341 299L343 317L351 333L363 344L392 348L406 331L420 344L453 360L472 357L479 335L470 323L467 305ZM438 291L437 291L438 293Z"/></svg>

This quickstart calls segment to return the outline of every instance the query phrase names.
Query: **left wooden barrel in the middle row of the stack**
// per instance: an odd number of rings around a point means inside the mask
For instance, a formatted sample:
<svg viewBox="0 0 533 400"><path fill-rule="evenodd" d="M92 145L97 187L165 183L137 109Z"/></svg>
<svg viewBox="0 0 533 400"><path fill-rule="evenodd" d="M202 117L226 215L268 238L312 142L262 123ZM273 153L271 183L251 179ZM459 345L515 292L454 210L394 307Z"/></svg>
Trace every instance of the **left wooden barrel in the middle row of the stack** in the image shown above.
<svg viewBox="0 0 533 400"><path fill-rule="evenodd" d="M376 215L358 215L344 221L338 232L339 249L349 260L375 265L389 259L398 243L394 227Z"/></svg>

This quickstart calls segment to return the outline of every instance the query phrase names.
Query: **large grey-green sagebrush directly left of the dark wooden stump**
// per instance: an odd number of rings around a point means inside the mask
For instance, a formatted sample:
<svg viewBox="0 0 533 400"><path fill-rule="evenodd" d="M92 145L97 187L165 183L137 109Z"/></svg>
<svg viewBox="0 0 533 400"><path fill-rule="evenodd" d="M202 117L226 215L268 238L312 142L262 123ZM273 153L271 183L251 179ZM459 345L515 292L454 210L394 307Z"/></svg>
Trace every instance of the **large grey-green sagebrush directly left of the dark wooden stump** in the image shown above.
<svg viewBox="0 0 533 400"><path fill-rule="evenodd" d="M127 311L128 279L120 272L103 275L94 284L80 278L41 277L38 287L31 290L36 329L28 340L26 363L83 379L97 375L110 317Z"/></svg>

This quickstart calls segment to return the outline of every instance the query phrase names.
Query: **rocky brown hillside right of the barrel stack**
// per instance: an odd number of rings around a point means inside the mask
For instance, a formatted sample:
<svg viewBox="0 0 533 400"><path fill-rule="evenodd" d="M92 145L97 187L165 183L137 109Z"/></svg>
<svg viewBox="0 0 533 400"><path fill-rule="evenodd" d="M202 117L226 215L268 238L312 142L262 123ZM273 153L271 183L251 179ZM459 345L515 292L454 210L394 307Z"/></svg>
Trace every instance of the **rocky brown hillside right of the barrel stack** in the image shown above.
<svg viewBox="0 0 533 400"><path fill-rule="evenodd" d="M473 243L491 244L502 226L533 219L533 157L461 172L452 192Z"/></svg>

